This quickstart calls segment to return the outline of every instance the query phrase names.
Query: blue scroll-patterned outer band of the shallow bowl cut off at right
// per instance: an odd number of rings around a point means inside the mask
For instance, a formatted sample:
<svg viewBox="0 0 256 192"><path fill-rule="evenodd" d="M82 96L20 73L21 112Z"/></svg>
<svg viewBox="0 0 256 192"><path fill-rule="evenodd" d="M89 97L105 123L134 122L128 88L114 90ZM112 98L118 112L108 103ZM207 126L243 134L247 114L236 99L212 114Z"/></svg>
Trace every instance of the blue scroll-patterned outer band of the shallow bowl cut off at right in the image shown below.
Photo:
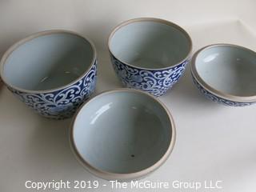
<svg viewBox="0 0 256 192"><path fill-rule="evenodd" d="M225 106L250 106L252 104L254 104L254 102L233 102L230 100L227 100L225 98L220 98L214 94L211 94L208 90L206 90L205 88L203 88L198 81L194 78L193 74L192 74L192 78L193 78L193 82L195 84L195 86L198 87L198 90L200 90L200 92L208 99L223 104Z"/></svg>

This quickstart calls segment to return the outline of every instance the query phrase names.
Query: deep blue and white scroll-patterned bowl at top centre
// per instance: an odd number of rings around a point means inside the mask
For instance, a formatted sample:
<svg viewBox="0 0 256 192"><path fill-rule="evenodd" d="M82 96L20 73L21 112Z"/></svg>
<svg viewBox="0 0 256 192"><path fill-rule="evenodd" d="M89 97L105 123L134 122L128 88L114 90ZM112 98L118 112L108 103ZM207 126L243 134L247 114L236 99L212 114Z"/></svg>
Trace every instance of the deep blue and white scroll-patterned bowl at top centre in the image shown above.
<svg viewBox="0 0 256 192"><path fill-rule="evenodd" d="M125 86L161 96L182 76L192 42L172 22L135 18L114 29L108 46L114 70Z"/></svg>

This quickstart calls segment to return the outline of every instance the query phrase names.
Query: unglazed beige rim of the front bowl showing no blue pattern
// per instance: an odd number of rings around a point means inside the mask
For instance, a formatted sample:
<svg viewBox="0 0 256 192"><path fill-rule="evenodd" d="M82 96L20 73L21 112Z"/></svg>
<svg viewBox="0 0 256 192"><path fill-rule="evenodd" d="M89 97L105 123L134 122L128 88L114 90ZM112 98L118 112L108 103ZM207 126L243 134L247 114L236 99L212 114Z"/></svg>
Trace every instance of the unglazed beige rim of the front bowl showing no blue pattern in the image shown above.
<svg viewBox="0 0 256 192"><path fill-rule="evenodd" d="M96 168L95 166L90 165L90 163L87 162L86 159L82 158L82 155L79 153L77 146L74 143L74 123L77 119L79 112L82 110L82 108L85 107L87 103L92 102L95 99L102 97L106 94L113 94L113 93L120 93L120 92L133 92L133 93L137 93L137 94L145 94L145 95L149 96L150 98L153 98L154 101L157 102L160 106L162 106L163 110L166 111L166 114L169 117L170 130L171 130L170 143L169 143L169 146L168 146L165 154L163 154L162 157L160 159L158 159L158 161L155 162L152 166L149 166L144 170L139 170L137 172L127 173L127 174L118 174L118 173L113 173L113 172L109 172L106 170L100 170L100 169ZM155 98L153 95L143 92L142 90L135 90L132 88L118 88L118 89L114 89L114 90L103 91L102 93L97 94L95 97L90 98L85 103L83 103L82 106L79 107L79 109L76 111L74 118L71 122L69 138L70 138L70 148L73 151L74 156L78 159L78 162L80 162L82 164L82 166L84 166L86 168L86 170L90 171L90 173L95 174L99 178L104 178L107 180L111 180L111 179L130 180L130 179L134 179L134 178L142 178L146 174L150 174L154 170L157 170L158 167L162 166L162 164L164 162L166 162L167 158L170 156L172 150L174 149L174 144L176 141L176 128L175 128L175 124L174 124L174 118L170 114L170 111L158 98Z"/></svg>

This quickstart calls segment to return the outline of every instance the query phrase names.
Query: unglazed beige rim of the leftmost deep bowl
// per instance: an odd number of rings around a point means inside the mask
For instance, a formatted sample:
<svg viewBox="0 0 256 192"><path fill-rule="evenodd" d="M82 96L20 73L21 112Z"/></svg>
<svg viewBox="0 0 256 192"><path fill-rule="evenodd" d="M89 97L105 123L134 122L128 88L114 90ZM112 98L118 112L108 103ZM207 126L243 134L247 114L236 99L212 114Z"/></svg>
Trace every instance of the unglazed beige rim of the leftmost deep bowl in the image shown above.
<svg viewBox="0 0 256 192"><path fill-rule="evenodd" d="M68 84L66 84L64 86L58 86L56 88L49 89L49 90L26 90L26 89L22 89L18 86L14 86L14 85L11 85L10 83L8 83L3 75L4 74L3 70L4 70L4 66L6 64L6 60L7 60L7 58L9 58L10 54L12 54L14 52L14 50L16 50L19 46L22 46L26 42L29 42L31 40L34 40L35 38L40 38L40 37L47 36L50 34L71 34L73 36L77 36L78 38L82 38L86 42L89 42L91 49L93 50L93 58L91 59L90 66L88 66L88 68L85 70L85 72L82 73L78 78L74 79L72 82L69 82ZM96 62L96 48L94 46L94 43L91 42L89 38L86 38L86 37L82 36L81 34L78 34L71 30L43 30L43 31L40 31L40 32L37 32L34 34L30 34L30 35L26 36L26 38L22 38L21 40L19 40L18 42L15 42L12 46L10 46L10 48L8 50L6 50L6 52L3 54L2 59L0 61L0 67L1 67L0 76L2 78L2 82L4 82L6 84L6 86L10 87L13 90L18 90L18 91L21 91L24 93L30 93L30 94L46 94L46 93L65 89L69 86L72 86L74 83L80 81L82 78L84 78L86 76L86 74L88 74L88 72L91 70L92 66L94 66L95 62Z"/></svg>

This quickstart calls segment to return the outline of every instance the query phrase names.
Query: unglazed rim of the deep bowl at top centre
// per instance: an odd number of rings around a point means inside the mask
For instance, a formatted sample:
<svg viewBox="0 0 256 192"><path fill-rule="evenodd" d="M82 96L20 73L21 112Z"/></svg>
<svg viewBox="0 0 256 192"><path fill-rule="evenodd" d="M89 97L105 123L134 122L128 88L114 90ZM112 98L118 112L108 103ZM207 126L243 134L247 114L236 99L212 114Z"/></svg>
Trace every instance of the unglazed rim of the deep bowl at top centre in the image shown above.
<svg viewBox="0 0 256 192"><path fill-rule="evenodd" d="M116 31L121 29L123 26L129 25L130 23L134 23L134 22L158 22L158 23L166 24L167 26L174 27L176 30L179 30L182 34L184 34L186 36L186 38L188 39L189 46L190 46L188 54L186 54L186 57L184 57L180 62L177 62L172 66L159 67L159 68L146 68L146 67L141 67L141 66L134 66L133 64L130 64L128 62L124 62L122 59L118 58L113 53L113 51L110 48L110 42L111 42L111 39L113 38ZM190 38L190 35L186 32L186 30L184 30L181 26L178 26L174 22L170 22L170 21L167 21L167 20L162 19L162 18L132 18L132 19L126 20L124 22L121 22L120 24L118 24L118 26L115 26L114 29L112 30L112 32L110 33L107 44L108 44L108 50L110 51L110 54L112 54L114 56L114 58L117 58L118 61L126 64L127 66L130 66L130 67L133 67L133 68L136 68L136 69L140 69L140 70L168 70L172 67L178 66L178 65L182 64L183 62L186 62L186 60L190 58L190 54L192 52L192 46L193 46L192 39Z"/></svg>

